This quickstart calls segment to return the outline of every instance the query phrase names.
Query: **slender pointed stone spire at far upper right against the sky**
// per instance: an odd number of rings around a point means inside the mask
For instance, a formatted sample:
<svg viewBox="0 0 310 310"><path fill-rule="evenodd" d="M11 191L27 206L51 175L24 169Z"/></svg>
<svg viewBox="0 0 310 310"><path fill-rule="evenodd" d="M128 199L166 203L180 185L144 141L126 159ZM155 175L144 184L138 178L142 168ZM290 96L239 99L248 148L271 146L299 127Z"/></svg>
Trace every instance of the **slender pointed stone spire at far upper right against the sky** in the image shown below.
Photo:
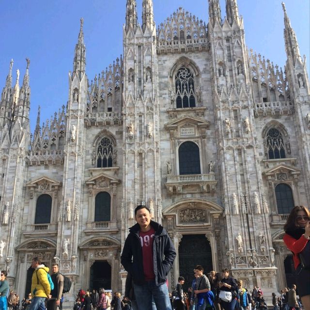
<svg viewBox="0 0 310 310"><path fill-rule="evenodd" d="M293 57L294 63L300 58L299 46L294 29L291 26L290 18L287 16L284 2L282 2L284 11L284 41L287 58Z"/></svg>

